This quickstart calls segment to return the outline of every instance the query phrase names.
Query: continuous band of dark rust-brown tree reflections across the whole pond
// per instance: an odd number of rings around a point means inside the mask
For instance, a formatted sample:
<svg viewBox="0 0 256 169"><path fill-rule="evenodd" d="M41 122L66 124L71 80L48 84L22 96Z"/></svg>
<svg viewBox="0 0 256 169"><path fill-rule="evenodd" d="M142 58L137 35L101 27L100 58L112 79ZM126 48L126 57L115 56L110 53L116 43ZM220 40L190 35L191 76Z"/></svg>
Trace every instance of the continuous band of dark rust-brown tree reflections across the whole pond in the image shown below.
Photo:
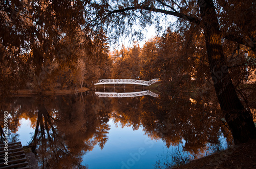
<svg viewBox="0 0 256 169"><path fill-rule="evenodd" d="M82 157L96 145L104 149L110 119L133 130L142 127L148 137L163 140L167 148L182 144L182 151L194 158L222 144L220 137L232 144L218 105L191 99L189 94L100 98L88 91L76 96L13 97L1 104L1 110L8 111L12 133L20 119L31 121L34 132L28 146L41 168L87 168ZM3 124L1 120L2 128Z"/></svg>

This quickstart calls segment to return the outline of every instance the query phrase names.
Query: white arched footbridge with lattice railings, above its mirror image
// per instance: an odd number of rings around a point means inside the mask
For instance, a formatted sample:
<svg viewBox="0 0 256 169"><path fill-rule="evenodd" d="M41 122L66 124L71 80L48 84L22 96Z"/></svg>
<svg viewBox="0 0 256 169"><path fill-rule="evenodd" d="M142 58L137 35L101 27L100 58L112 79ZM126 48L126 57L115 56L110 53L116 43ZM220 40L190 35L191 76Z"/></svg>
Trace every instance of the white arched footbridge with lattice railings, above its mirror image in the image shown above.
<svg viewBox="0 0 256 169"><path fill-rule="evenodd" d="M98 82L94 83L94 85L105 85L105 84L132 84L132 85L144 85L150 86L153 83L160 81L159 78L154 78L149 81L145 80L135 80L135 79L101 79Z"/></svg>

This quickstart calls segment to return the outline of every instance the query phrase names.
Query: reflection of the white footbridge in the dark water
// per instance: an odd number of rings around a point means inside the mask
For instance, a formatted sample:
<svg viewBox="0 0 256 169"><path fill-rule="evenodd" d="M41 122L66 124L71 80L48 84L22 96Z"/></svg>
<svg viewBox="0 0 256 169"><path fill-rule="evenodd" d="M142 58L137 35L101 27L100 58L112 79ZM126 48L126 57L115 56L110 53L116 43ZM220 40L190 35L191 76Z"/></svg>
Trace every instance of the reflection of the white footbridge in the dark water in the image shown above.
<svg viewBox="0 0 256 169"><path fill-rule="evenodd" d="M151 91L128 92L128 93L95 92L95 95L98 97L137 97L137 96L146 96L146 95L159 97L159 94L153 93Z"/></svg>

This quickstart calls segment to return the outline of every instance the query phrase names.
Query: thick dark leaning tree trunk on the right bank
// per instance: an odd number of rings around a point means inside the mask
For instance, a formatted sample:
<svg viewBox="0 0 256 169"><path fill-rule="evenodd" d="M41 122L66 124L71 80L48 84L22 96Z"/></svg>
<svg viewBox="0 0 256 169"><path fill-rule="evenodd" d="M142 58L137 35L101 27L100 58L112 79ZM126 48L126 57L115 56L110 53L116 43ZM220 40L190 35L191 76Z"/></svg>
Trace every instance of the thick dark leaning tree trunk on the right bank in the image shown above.
<svg viewBox="0 0 256 169"><path fill-rule="evenodd" d="M256 137L252 115L242 105L228 73L214 4L212 0L199 0L199 5L211 77L218 100L233 135L234 144L245 143Z"/></svg>

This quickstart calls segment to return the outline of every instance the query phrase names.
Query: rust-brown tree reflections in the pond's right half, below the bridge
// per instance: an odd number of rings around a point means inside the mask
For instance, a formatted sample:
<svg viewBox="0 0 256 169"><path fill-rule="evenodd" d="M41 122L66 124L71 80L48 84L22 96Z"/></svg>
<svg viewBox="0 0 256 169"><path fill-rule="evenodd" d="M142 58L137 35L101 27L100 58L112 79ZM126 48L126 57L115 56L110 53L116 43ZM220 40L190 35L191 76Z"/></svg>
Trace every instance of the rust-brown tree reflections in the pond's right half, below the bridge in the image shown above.
<svg viewBox="0 0 256 169"><path fill-rule="evenodd" d="M229 144L232 137L221 120L218 105L191 94L177 96L162 94L160 98L140 97L113 99L112 117L122 126L138 129L143 126L152 139L162 139L166 146L177 146L185 140L184 151L202 156L207 145L219 145L224 134Z"/></svg>

